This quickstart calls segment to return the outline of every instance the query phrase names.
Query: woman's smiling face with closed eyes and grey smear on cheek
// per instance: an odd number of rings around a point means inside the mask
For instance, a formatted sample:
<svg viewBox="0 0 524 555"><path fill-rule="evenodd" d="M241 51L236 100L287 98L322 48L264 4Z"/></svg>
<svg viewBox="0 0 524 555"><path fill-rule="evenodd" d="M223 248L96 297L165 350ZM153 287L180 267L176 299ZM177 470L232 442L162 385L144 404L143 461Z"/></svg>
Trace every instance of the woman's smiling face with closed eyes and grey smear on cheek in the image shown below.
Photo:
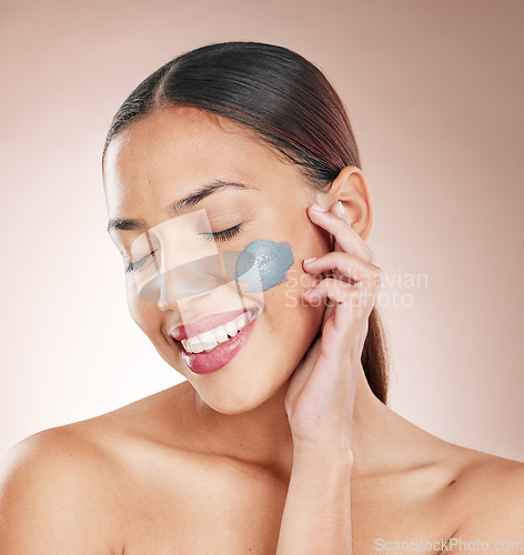
<svg viewBox="0 0 524 555"><path fill-rule="evenodd" d="M170 211L175 201L218 180L245 186L219 186L179 204L177 215ZM104 185L109 219L141 222L141 226L110 229L125 266L135 263L145 245L141 258L154 251L150 259L154 259L154 266L150 264L150 269L169 266L173 269L170 275L178 276L180 283L187 280L183 286L171 290L172 295L148 297L138 275L142 270L135 265L135 271L125 272L130 313L160 355L188 379L209 406L225 414L254 408L276 393L321 325L323 305L306 305L300 297L320 279L306 274L302 261L328 252L331 240L308 219L306 208L313 202L329 208L329 193L312 189L296 164L284 160L249 129L189 107L155 110L117 135L105 154ZM210 241L198 230L206 224L215 234L230 229L233 232L216 234L214 241L211 235ZM154 238L158 244L152 244ZM201 256L196 255L200 249ZM201 278L211 268L208 260L213 260L205 255L213 250L241 253L239 260L244 261L249 253L249 261L262 261L254 269L264 274L264 285L249 287L239 279L223 287L205 286L208 282ZM180 271L188 268L189 274ZM204 285L199 290L198 283ZM191 286L195 287L192 292ZM160 301L165 304L159 306ZM188 354L170 332L182 326L179 330L191 337L211 326L208 322L206 327L196 324L192 329L193 323L210 314L234 311L239 302L255 309L256 317L243 334L228 335L230 339L215 347L234 355L219 370L201 373L209 365L195 361L213 361L213 349L204 351L205 356ZM231 351L229 342L240 346Z"/></svg>

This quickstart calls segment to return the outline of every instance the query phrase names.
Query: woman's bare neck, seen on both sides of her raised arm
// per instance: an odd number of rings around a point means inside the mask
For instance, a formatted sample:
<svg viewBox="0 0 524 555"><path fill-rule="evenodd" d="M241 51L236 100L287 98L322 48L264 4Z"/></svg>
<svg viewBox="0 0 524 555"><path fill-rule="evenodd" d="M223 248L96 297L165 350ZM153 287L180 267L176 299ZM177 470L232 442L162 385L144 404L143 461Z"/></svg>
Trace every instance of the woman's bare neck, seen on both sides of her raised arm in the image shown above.
<svg viewBox="0 0 524 555"><path fill-rule="evenodd" d="M222 414L205 405L191 387L210 450L289 477L293 437L284 408L286 389L288 383L252 411ZM420 458L421 441L434 446L440 440L384 405L371 391L361 365L352 424L353 475L365 477L407 467Z"/></svg>

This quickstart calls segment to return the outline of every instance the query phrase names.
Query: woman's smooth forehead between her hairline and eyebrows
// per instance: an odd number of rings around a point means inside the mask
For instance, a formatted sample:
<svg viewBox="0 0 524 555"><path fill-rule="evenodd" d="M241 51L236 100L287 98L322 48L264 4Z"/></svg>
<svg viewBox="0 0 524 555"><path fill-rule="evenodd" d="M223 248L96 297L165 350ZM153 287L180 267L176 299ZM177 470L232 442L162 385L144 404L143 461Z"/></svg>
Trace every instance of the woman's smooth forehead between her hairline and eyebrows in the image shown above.
<svg viewBox="0 0 524 555"><path fill-rule="evenodd" d="M111 141L104 185L137 190L147 184L160 192L167 182L191 186L220 174L246 180L279 163L274 149L229 118L191 107L158 109Z"/></svg>

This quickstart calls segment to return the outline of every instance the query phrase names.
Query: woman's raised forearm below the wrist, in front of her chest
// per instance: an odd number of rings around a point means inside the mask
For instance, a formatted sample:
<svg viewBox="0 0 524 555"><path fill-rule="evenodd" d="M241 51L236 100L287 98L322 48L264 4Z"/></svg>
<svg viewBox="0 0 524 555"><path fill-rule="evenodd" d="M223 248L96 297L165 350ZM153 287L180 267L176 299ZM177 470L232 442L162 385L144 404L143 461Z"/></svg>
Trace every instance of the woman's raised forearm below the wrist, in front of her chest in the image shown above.
<svg viewBox="0 0 524 555"><path fill-rule="evenodd" d="M350 448L295 450L276 555L352 555Z"/></svg>

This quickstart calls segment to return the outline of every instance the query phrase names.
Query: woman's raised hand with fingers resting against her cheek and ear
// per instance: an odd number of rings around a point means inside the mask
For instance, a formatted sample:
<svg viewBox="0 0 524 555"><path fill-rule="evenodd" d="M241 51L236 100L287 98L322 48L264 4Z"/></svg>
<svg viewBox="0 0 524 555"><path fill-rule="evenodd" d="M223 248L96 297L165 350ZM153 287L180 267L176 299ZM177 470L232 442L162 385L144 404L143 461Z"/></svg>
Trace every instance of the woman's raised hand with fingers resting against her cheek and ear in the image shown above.
<svg viewBox="0 0 524 555"><path fill-rule="evenodd" d="M325 309L320 335L290 379L285 411L295 446L334 442L351 448L356 379L382 270L372 263L372 251L351 228L340 203L329 212L309 206L308 215L333 235L334 248L304 261L304 271L334 272L303 296L315 306L324 302Z"/></svg>

